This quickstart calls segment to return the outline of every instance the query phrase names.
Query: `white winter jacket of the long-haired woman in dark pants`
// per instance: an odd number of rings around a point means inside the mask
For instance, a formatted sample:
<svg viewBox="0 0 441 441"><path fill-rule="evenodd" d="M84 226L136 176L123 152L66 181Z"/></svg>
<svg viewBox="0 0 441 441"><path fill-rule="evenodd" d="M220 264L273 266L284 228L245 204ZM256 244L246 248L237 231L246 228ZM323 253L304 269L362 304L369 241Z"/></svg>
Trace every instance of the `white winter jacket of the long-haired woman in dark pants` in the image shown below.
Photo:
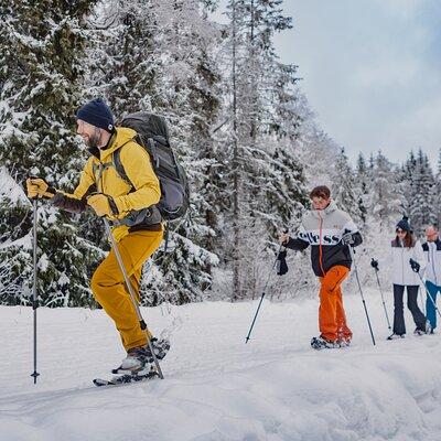
<svg viewBox="0 0 441 441"><path fill-rule="evenodd" d="M423 276L427 259L424 257L424 252L422 250L420 241L417 240L415 243L415 246L411 248L405 248L402 247L400 241L398 241L397 244L397 240L392 240L391 254L394 266L392 283L404 286L420 284L420 278L416 272L413 272L409 263L410 259L413 259L418 263L420 263L420 275L421 277Z"/></svg>

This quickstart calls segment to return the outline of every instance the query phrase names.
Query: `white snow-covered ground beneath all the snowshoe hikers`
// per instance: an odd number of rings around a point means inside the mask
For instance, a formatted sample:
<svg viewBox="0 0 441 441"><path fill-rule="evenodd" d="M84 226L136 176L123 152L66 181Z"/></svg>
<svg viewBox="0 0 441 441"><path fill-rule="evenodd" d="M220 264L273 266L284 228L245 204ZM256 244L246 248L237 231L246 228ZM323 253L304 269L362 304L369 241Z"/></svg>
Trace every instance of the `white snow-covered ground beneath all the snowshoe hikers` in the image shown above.
<svg viewBox="0 0 441 441"><path fill-rule="evenodd" d="M387 293L390 298L390 293ZM366 293L374 347L357 293L345 297L348 349L312 351L316 300L206 302L146 309L172 348L164 380L96 388L123 357L103 311L40 309L33 385L32 310L0 308L0 440L441 439L441 337L386 342L380 297ZM388 304L391 312L391 304Z"/></svg>

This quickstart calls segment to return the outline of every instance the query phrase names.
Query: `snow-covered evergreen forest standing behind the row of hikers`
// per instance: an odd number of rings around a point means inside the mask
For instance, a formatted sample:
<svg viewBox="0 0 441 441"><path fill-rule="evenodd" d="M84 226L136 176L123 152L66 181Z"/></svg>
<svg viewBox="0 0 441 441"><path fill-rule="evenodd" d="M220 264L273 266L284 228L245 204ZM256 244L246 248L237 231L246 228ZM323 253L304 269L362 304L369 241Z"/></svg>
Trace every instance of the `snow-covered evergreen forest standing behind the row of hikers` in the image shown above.
<svg viewBox="0 0 441 441"><path fill-rule="evenodd" d="M422 152L402 166L378 153L353 169L316 126L297 66L273 44L292 26L282 7L230 0L219 24L214 0L0 0L1 303L30 303L32 207L18 189L29 174L76 186L87 153L74 112L96 96L118 119L163 115L190 176L191 214L170 225L166 252L144 268L144 304L260 295L278 230L295 230L316 183L332 183L366 234L404 209L426 223L419 201L439 206L440 192L422 196L439 185L433 173L424 181ZM40 204L37 245L41 303L95 306L89 278L108 249L101 222ZM305 254L290 265L270 282L276 297L314 283Z"/></svg>

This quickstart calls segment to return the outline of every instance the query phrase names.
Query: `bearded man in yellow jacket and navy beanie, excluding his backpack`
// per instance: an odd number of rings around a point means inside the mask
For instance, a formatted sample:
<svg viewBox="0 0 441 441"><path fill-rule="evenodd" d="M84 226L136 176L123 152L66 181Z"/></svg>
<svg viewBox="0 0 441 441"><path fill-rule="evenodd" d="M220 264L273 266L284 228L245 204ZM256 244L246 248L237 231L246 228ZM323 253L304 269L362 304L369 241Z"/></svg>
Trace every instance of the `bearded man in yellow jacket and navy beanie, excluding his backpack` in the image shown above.
<svg viewBox="0 0 441 441"><path fill-rule="evenodd" d="M136 131L115 127L111 110L103 99L96 98L80 107L76 122L77 133L92 153L78 186L68 194L33 178L26 181L28 195L47 198L54 206L72 213L80 213L89 206L98 216L106 216L139 301L142 266L158 249L163 236L161 214L155 207L161 197L158 178L149 153L135 140ZM131 184L115 168L117 150ZM121 336L127 351L122 369L136 372L152 363L150 349L146 347L148 340L158 358L165 355L169 343L140 329L114 250L95 271L92 290Z"/></svg>

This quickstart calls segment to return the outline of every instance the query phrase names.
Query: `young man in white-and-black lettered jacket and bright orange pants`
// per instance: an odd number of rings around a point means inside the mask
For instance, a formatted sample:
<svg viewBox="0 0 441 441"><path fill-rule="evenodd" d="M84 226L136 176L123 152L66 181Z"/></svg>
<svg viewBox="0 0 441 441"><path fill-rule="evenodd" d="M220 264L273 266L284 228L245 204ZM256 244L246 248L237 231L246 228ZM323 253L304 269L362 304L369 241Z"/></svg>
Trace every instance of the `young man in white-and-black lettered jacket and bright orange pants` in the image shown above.
<svg viewBox="0 0 441 441"><path fill-rule="evenodd" d="M362 244L363 238L351 216L331 200L327 186L313 189L310 198L313 209L303 217L297 237L283 233L279 239L295 250L311 245L312 269L321 283L320 335L311 340L311 346L315 349L347 346L352 332L346 323L341 286L351 270L348 247Z"/></svg>

